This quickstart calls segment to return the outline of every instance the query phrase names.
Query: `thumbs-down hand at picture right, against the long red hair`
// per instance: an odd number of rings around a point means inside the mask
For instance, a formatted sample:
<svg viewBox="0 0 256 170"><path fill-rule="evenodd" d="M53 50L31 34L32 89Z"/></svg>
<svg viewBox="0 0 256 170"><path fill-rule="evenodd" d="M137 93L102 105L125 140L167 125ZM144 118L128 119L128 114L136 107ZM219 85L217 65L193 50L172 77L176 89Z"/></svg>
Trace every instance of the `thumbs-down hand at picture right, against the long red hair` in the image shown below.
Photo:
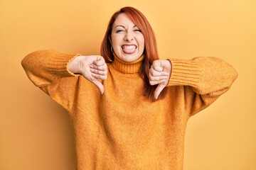
<svg viewBox="0 0 256 170"><path fill-rule="evenodd" d="M171 62L169 60L155 60L149 69L149 84L159 84L154 91L154 98L158 98L161 91L168 85L171 76Z"/></svg>

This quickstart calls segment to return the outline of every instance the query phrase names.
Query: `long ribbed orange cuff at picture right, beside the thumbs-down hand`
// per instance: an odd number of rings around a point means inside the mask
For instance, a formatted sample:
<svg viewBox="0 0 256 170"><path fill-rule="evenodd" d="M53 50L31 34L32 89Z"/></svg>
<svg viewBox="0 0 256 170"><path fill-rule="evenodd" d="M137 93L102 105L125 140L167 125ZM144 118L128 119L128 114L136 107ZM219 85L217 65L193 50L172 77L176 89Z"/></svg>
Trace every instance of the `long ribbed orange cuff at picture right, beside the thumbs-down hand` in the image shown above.
<svg viewBox="0 0 256 170"><path fill-rule="evenodd" d="M171 77L168 86L196 86L201 76L200 63L193 60L169 59Z"/></svg>

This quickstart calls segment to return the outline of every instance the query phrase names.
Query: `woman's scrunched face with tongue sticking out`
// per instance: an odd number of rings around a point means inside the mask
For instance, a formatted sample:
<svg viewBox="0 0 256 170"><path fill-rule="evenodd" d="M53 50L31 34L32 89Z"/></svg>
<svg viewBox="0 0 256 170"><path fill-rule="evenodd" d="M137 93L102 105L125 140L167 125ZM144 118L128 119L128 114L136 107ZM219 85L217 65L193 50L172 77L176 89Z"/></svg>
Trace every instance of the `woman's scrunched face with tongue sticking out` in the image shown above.
<svg viewBox="0 0 256 170"><path fill-rule="evenodd" d="M124 62L134 62L144 52L144 36L125 13L114 21L110 42L114 53Z"/></svg>

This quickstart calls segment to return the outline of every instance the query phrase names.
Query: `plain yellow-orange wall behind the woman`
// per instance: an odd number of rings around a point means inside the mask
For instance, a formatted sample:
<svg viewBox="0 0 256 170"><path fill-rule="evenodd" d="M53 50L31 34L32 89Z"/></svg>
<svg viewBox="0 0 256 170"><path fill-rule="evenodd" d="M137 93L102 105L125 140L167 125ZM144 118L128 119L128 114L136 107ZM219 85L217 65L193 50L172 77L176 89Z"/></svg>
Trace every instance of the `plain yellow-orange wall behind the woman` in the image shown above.
<svg viewBox="0 0 256 170"><path fill-rule="evenodd" d="M188 121L184 169L255 170L255 0L1 0L0 169L74 169L68 114L33 86L21 60L43 49L100 54L122 6L148 18L162 59L215 56L239 73L227 94Z"/></svg>

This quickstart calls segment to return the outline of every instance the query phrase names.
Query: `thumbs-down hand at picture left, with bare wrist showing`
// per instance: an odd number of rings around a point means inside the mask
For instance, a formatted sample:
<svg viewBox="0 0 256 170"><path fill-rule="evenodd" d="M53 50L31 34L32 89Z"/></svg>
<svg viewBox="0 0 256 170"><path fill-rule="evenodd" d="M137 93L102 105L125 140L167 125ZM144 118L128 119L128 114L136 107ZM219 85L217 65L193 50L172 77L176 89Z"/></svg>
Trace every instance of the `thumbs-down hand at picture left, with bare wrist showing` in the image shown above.
<svg viewBox="0 0 256 170"><path fill-rule="evenodd" d="M82 74L85 79L91 81L100 89L101 94L104 92L104 86L99 81L107 79L107 64L100 55L78 56L68 64L70 72Z"/></svg>

